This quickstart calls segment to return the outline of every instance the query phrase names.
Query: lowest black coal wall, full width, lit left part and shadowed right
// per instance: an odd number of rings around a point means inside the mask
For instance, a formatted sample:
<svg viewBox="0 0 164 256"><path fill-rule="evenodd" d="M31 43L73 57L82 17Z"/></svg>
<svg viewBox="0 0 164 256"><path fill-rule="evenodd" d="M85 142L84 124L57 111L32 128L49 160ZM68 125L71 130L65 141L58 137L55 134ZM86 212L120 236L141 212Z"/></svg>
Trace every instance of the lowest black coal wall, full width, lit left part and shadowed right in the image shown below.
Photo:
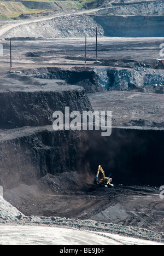
<svg viewBox="0 0 164 256"><path fill-rule="evenodd" d="M34 184L46 173L77 171L96 175L102 165L113 183L163 185L164 132L113 128L99 131L53 131L43 127L23 136L1 140L0 185L5 189ZM93 180L90 181L93 183Z"/></svg>

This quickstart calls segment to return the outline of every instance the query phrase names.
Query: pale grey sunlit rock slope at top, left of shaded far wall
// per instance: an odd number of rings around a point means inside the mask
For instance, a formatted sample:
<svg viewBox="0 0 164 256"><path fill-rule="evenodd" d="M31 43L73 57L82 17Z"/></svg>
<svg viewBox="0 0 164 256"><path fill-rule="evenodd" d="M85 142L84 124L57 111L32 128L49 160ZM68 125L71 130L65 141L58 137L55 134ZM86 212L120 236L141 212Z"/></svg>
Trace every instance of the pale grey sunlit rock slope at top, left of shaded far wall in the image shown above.
<svg viewBox="0 0 164 256"><path fill-rule="evenodd" d="M76 24L76 26L74 26ZM81 26L83 24L83 26ZM48 21L32 22L20 25L10 30L4 38L12 37L42 37L42 38L73 38L95 37L95 27L98 34L103 35L103 27L95 21L94 17L87 15L61 16ZM85 41L84 41L85 42Z"/></svg>

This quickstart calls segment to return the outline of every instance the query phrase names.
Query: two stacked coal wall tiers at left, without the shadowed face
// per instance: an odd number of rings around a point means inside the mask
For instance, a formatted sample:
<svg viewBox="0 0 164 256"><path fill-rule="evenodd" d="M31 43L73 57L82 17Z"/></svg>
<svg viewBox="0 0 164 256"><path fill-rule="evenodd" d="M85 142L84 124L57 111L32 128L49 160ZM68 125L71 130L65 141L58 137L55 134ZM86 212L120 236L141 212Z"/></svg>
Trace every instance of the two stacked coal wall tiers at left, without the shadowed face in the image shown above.
<svg viewBox="0 0 164 256"><path fill-rule="evenodd" d="M14 84L10 83L13 77ZM52 114L56 110L65 114L65 107L70 113L92 110L84 89L55 80L41 83L17 73L1 82L1 129L5 131L0 139L0 185L6 189L32 184L46 173L74 171L80 134L55 132Z"/></svg>

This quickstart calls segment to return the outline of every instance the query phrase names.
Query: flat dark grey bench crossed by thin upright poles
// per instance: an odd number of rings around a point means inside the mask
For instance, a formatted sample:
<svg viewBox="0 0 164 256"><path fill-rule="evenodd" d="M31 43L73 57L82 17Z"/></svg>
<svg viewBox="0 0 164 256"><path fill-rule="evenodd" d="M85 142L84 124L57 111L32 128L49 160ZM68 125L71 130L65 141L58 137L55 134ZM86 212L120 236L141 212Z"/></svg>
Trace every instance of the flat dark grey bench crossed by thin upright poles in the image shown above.
<svg viewBox="0 0 164 256"><path fill-rule="evenodd" d="M0 57L0 74L10 70L9 41L3 44L3 57ZM136 60L153 63L160 58L160 44L163 38L98 38L98 59L121 61ZM26 54L38 56L29 57ZM32 56L32 55L31 55ZM61 38L33 41L13 41L13 71L37 67L73 67L83 66L85 60L85 38ZM87 66L94 67L96 60L95 38L87 38ZM123 62L122 62L123 63ZM125 63L123 63L125 66ZM116 65L119 67L119 65Z"/></svg>

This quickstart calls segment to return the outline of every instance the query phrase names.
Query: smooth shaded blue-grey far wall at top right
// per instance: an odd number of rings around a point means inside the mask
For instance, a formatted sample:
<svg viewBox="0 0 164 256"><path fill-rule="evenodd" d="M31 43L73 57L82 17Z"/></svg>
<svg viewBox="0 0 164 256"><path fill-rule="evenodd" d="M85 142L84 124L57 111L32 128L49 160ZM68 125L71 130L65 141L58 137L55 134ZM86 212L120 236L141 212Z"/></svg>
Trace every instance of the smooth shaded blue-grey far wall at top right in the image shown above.
<svg viewBox="0 0 164 256"><path fill-rule="evenodd" d="M163 37L163 16L95 16L106 37Z"/></svg>

